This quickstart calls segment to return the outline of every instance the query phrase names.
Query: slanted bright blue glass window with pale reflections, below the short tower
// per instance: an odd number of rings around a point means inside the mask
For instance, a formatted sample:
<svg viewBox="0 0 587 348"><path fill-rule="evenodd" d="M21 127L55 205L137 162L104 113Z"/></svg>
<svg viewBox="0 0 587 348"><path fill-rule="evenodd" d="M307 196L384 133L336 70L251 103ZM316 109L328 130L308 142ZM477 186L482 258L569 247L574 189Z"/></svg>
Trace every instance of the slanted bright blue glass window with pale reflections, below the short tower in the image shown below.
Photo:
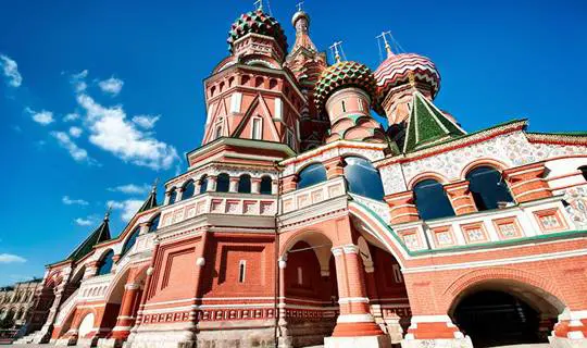
<svg viewBox="0 0 587 348"><path fill-rule="evenodd" d="M349 185L349 191L365 196L376 200L383 200L385 194L383 189L382 176L373 167L369 160L360 157L345 158L345 178Z"/></svg>

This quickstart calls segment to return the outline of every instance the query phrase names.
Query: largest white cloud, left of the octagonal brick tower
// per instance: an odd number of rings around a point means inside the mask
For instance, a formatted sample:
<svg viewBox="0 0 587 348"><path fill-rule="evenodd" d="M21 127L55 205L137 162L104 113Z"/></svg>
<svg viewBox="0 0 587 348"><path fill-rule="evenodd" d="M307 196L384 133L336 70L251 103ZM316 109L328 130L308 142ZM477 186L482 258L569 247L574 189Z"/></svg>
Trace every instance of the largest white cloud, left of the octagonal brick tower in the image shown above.
<svg viewBox="0 0 587 348"><path fill-rule="evenodd" d="M121 105L103 107L86 94L78 95L77 102L87 113L89 140L99 148L153 170L168 169L178 159L173 146L152 138L128 122Z"/></svg>

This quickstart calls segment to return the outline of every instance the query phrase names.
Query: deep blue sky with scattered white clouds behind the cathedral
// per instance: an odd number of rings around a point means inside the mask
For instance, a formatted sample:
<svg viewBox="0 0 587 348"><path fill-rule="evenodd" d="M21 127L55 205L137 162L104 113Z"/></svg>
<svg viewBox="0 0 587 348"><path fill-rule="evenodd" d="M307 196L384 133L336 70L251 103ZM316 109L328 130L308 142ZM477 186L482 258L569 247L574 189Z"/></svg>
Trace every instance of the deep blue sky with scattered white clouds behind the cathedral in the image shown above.
<svg viewBox="0 0 587 348"><path fill-rule="evenodd" d="M272 1L289 44L296 1ZM114 207L112 233L155 177L186 167L202 79L252 1L11 1L0 12L0 285L42 276ZM266 9L266 4L265 4ZM391 30L442 76L436 104L470 132L529 117L585 130L585 1L308 0L311 36L375 69ZM160 189L161 191L161 189ZM160 195L161 198L162 195Z"/></svg>

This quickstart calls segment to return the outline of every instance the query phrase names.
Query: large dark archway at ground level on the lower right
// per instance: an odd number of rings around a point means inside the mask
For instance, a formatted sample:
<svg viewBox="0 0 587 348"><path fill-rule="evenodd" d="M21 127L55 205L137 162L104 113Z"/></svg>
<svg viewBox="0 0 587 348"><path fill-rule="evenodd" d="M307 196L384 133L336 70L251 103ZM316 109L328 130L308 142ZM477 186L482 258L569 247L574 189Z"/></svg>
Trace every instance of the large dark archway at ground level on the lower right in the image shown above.
<svg viewBox="0 0 587 348"><path fill-rule="evenodd" d="M514 281L489 281L454 301L451 316L474 347L548 343L564 306L558 299Z"/></svg>

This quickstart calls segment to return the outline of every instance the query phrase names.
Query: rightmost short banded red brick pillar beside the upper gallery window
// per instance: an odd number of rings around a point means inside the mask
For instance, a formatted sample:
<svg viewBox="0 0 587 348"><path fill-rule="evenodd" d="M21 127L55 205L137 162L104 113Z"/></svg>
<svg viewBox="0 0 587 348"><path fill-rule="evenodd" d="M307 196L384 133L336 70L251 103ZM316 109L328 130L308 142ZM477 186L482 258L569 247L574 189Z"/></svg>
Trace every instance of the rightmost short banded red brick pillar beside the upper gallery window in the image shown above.
<svg viewBox="0 0 587 348"><path fill-rule="evenodd" d="M552 197L547 182L542 178L545 170L545 163L538 162L503 171L503 177L516 202Z"/></svg>

